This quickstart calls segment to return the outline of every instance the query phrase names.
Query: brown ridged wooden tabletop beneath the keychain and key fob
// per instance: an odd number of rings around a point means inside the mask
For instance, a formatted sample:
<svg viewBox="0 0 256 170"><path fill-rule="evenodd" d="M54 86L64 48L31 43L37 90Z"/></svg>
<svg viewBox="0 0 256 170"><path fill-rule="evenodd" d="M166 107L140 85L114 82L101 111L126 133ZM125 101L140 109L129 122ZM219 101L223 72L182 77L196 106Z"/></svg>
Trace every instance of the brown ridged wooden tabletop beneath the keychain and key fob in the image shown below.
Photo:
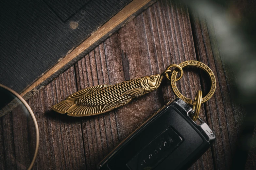
<svg viewBox="0 0 256 170"><path fill-rule="evenodd" d="M209 30L210 23L190 17L187 7L157 1L40 89L27 101L40 132L33 168L95 170L104 156L174 94L170 82L163 80L156 91L92 117L61 115L51 110L52 105L87 87L159 74L169 64L198 60L217 78L214 96L200 110L217 139L190 169L230 169L244 113L230 98L231 82ZM197 90L207 93L205 79L197 68L188 68L177 86L182 94L194 98Z"/></svg>

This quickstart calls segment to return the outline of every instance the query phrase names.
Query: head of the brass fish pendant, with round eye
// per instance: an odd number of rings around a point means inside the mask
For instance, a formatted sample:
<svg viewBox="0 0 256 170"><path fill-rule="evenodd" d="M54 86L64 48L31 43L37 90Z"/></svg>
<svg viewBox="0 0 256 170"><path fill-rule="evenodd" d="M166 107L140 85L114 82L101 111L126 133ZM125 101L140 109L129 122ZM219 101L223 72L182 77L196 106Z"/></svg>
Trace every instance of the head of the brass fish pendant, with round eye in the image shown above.
<svg viewBox="0 0 256 170"><path fill-rule="evenodd" d="M161 84L163 76L161 74L145 76L141 79L141 86L146 92L153 91Z"/></svg>

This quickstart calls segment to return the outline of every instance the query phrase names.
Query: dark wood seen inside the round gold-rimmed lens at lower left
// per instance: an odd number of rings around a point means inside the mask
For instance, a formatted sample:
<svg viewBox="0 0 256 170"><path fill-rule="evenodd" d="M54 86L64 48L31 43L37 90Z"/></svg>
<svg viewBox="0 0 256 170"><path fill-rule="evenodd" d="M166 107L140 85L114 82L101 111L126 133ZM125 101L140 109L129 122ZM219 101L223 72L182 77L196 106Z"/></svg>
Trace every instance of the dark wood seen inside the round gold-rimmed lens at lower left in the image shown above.
<svg viewBox="0 0 256 170"><path fill-rule="evenodd" d="M30 113L23 104L0 118L1 169L26 170L34 156L36 131Z"/></svg>

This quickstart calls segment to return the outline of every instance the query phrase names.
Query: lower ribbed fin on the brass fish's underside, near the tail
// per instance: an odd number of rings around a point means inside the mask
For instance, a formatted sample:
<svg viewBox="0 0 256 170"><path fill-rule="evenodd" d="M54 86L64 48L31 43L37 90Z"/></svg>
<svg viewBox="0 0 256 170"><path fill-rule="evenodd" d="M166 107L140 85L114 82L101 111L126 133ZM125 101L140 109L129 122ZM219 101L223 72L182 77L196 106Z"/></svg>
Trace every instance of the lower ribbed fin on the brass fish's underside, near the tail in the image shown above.
<svg viewBox="0 0 256 170"><path fill-rule="evenodd" d="M68 110L68 116L91 116L105 113L112 110L112 107L116 103L111 103L107 105L97 105L97 106L88 106L88 105L73 105Z"/></svg>

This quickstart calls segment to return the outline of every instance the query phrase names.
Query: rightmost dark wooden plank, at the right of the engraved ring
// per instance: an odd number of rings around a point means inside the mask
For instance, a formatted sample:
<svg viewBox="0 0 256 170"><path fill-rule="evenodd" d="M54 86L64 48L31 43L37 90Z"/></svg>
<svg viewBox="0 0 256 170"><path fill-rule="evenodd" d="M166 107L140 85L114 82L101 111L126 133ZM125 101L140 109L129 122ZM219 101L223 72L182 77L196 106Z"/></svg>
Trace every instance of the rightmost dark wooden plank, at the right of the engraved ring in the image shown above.
<svg viewBox="0 0 256 170"><path fill-rule="evenodd" d="M218 87L215 90L213 100L205 104L208 123L216 134L216 142L213 145L214 167L216 169L230 169L244 112L241 106L231 100L232 83L227 79L230 80L229 77L232 75L226 75L226 72L230 72L230 68L222 64L214 35L214 26L209 21L199 19L197 15L193 16L192 25L198 60L213 70ZM208 90L205 84L207 78L202 75L201 82L204 91Z"/></svg>

